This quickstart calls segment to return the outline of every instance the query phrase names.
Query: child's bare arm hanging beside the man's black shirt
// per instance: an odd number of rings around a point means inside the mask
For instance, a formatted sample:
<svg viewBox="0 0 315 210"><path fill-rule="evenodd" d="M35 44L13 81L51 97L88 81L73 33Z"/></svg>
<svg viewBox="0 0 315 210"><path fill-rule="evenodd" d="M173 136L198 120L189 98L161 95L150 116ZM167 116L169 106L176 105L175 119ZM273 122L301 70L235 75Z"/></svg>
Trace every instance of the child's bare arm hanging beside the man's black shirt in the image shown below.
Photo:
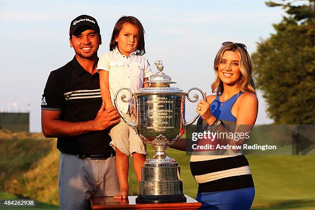
<svg viewBox="0 0 315 210"><path fill-rule="evenodd" d="M104 101L105 109L107 110L113 107L111 94L109 91L108 71L105 71L105 70L99 71L99 86L100 86L100 92L102 95L102 100Z"/></svg>

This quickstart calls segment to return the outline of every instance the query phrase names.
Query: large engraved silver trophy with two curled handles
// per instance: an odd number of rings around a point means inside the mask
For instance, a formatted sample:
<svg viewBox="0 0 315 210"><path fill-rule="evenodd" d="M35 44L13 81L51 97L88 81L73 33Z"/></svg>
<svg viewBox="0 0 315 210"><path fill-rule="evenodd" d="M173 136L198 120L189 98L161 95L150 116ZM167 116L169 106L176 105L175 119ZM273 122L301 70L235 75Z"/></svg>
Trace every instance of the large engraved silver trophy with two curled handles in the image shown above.
<svg viewBox="0 0 315 210"><path fill-rule="evenodd" d="M186 202L183 194L183 182L180 178L178 163L169 158L165 149L176 143L182 136L187 126L192 125L199 114L191 121L185 120L185 96L191 102L198 101L189 98L192 90L197 90L205 99L204 93L198 88L191 88L187 93L179 88L170 87L171 78L162 73L164 66L162 61L155 61L159 72L150 76L146 83L149 88L142 88L132 94L130 89L119 89L114 97L114 104L122 120L133 128L144 143L150 144L155 149L152 158L147 159L142 167L142 179L139 181L139 195L136 203L170 203ZM130 95L119 95L121 91L128 91ZM123 102L129 102L134 98L135 122L128 121L119 110L117 97ZM132 97L133 96L133 97Z"/></svg>

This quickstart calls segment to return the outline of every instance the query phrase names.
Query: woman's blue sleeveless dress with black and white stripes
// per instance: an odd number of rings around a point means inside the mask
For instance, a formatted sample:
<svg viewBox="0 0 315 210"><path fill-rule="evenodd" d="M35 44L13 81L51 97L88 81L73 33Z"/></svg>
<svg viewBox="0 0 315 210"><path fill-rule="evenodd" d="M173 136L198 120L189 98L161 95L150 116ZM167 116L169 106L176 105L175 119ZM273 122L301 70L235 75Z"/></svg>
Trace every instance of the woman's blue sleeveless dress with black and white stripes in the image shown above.
<svg viewBox="0 0 315 210"><path fill-rule="evenodd" d="M224 124L236 124L231 109L235 94L223 104L218 95L211 103L212 114ZM197 125L205 124L200 117ZM222 152L222 151L221 151ZM199 184L197 201L200 209L246 210L250 209L255 196L254 182L249 163L243 152L226 150L220 155L191 155L190 170Z"/></svg>

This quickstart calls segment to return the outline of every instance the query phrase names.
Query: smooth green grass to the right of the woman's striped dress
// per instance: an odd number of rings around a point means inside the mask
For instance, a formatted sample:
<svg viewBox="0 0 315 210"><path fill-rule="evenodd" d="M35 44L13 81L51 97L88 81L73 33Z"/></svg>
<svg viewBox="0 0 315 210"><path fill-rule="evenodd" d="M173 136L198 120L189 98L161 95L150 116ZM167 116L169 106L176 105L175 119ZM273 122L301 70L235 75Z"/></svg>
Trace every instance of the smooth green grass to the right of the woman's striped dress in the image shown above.
<svg viewBox="0 0 315 210"><path fill-rule="evenodd" d="M315 155L247 158L255 184L255 206L315 206Z"/></svg>

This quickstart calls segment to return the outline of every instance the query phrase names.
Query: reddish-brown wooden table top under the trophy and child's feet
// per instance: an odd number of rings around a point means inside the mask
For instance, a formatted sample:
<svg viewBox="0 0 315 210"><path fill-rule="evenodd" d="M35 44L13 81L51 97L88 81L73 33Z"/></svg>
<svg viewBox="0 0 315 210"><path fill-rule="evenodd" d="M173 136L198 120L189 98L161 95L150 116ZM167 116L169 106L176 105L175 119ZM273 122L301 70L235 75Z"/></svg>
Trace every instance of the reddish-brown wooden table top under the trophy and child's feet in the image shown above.
<svg viewBox="0 0 315 210"><path fill-rule="evenodd" d="M183 203L141 203L136 204L136 196L128 199L114 199L114 197L94 197L90 199L92 209L198 209L201 203L186 196Z"/></svg>

